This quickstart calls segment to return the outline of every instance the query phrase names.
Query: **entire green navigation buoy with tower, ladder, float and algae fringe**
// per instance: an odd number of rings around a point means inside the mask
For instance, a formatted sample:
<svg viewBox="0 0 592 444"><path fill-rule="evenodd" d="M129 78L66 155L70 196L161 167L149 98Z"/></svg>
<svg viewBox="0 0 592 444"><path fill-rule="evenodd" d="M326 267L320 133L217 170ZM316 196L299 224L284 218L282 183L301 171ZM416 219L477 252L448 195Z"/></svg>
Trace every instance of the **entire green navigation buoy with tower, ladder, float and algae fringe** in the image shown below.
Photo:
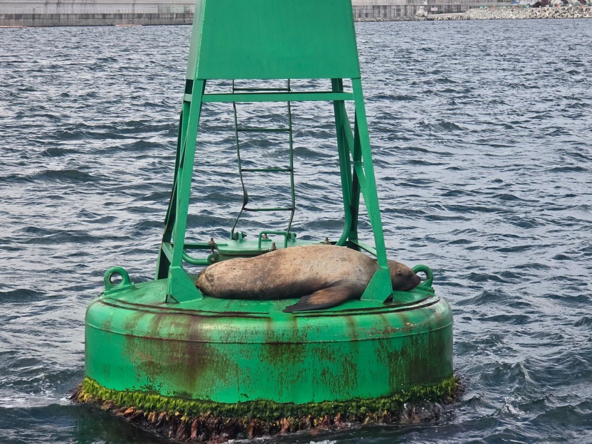
<svg viewBox="0 0 592 444"><path fill-rule="evenodd" d="M285 88L260 86L278 79ZM311 84L327 87L293 89L291 81L301 79L321 79ZM232 86L228 92L208 92L206 86L217 81ZM238 86L245 81L257 86ZM297 240L291 229L291 103L308 101L332 102L334 109L345 210L343 231L335 240ZM353 128L348 101L355 110ZM243 205L229 239L186 242L194 159L200 159L200 115L202 104L211 102L228 104L235 112L241 181L253 172L284 173L291 203L249 206L243 182ZM284 102L287 126L240 127L236 104L242 102ZM156 278L135 284L123 268L107 271L104 292L86 312L85 379L76 398L99 401L176 440L253 437L339 422L397 422L414 403L449 399L456 388L449 305L435 294L426 266L414 268L426 280L412 291L393 291L391 285L350 0L198 0L179 122ZM244 168L242 138L274 131L287 134L289 165ZM358 239L361 198L374 246ZM288 227L262 230L246 240L237 223L248 211L285 211ZM377 258L378 269L360 300L282 313L295 300L208 297L195 286L197 275L186 271L188 265L311 243L363 250ZM115 276L121 277L117 284Z"/></svg>

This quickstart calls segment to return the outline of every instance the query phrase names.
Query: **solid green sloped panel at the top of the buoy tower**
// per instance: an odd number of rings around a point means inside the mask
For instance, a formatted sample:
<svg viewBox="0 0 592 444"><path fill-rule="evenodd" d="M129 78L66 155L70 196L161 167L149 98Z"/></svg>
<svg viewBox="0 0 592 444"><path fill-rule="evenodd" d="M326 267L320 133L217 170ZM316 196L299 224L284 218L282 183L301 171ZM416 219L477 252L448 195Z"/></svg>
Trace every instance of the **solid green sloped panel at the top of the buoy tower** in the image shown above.
<svg viewBox="0 0 592 444"><path fill-rule="evenodd" d="M187 79L359 78L350 0L198 0Z"/></svg>

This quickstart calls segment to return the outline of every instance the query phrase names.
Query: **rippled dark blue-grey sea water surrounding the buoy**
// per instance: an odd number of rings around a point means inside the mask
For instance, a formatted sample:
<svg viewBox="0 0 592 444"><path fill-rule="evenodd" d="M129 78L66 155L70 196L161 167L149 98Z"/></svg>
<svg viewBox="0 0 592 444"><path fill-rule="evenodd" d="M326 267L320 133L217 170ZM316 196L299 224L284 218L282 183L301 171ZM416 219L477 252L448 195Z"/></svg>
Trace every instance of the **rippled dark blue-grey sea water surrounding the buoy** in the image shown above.
<svg viewBox="0 0 592 444"><path fill-rule="evenodd" d="M260 441L592 442L592 20L356 29L389 255L435 272L464 391L436 422ZM162 442L67 397L105 269L153 276L189 33L0 30L2 443ZM292 111L294 230L337 236L332 108ZM231 111L208 105L202 123L189 226L207 240L228 235L242 192ZM255 148L253 164L285 156L279 140ZM285 197L285 184L249 186L254 198ZM241 227L276 223L258 215Z"/></svg>

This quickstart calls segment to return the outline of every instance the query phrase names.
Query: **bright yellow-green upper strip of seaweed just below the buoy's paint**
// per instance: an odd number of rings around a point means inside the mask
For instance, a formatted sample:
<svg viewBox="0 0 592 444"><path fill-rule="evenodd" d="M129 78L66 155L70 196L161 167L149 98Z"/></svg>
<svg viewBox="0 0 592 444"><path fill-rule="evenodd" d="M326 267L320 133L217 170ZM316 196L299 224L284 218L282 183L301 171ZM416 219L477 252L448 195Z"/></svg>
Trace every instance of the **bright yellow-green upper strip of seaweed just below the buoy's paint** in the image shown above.
<svg viewBox="0 0 592 444"><path fill-rule="evenodd" d="M225 404L182 397L167 397L156 392L111 390L102 387L93 379L85 378L78 391L78 401L111 401L119 407L135 407L143 411L169 412L189 417L209 414L226 418L256 418L263 421L276 421L286 417L309 415L324 417L337 413L350 418L395 414L401 411L406 403L451 401L455 397L457 388L456 377L451 377L439 384L420 385L383 398L323 401L308 404L274 403L273 401Z"/></svg>

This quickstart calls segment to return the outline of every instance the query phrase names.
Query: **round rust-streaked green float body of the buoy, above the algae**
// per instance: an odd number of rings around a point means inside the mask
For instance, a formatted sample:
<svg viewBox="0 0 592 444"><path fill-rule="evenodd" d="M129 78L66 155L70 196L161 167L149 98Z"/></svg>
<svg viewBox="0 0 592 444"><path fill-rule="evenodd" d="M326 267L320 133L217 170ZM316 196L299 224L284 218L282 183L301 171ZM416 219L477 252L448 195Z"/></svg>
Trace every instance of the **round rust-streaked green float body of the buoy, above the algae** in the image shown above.
<svg viewBox="0 0 592 444"><path fill-rule="evenodd" d="M282 313L294 300L162 303L166 280L97 298L86 377L117 391L217 403L372 399L452 377L452 314L433 289L401 306L349 301Z"/></svg>

